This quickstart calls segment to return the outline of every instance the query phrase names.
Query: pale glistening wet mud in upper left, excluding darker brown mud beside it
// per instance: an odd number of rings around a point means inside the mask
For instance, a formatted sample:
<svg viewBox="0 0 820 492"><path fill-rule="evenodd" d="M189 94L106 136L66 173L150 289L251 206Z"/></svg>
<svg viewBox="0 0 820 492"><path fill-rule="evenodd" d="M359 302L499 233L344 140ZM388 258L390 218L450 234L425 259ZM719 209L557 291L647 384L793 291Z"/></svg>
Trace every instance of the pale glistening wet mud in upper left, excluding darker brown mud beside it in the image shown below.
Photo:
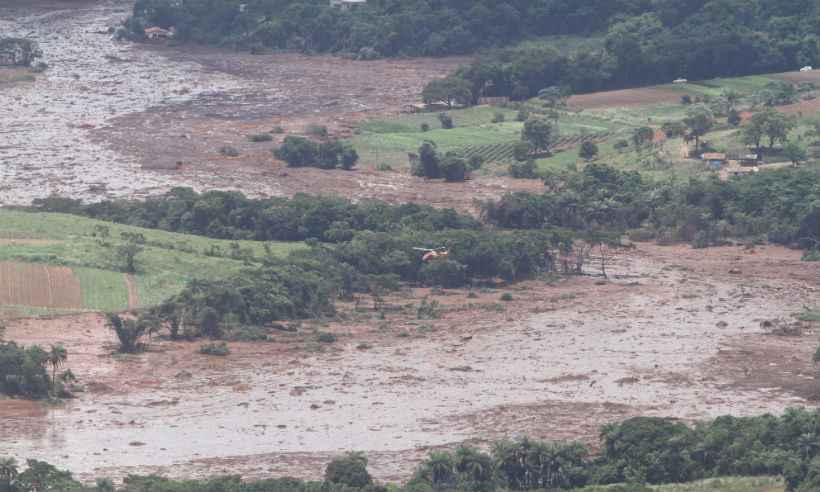
<svg viewBox="0 0 820 492"><path fill-rule="evenodd" d="M32 3L0 2L0 32L36 39L49 64L34 84L0 87L0 205L50 194L141 196L184 184L182 174L141 170L133 159L92 143L88 132L118 115L239 83L114 41L105 32L125 18L128 1Z"/></svg>

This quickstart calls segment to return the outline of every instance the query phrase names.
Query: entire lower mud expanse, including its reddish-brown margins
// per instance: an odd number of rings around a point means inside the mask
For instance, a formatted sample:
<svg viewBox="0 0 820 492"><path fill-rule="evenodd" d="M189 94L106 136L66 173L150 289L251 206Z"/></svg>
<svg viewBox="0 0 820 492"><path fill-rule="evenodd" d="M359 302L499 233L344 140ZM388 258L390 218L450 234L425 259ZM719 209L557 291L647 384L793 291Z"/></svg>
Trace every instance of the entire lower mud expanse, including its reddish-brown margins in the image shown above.
<svg viewBox="0 0 820 492"><path fill-rule="evenodd" d="M231 343L224 358L156 339L114 356L99 315L13 321L8 339L64 343L86 391L56 407L0 401L0 441L86 479L317 478L334 454L361 450L375 476L397 480L430 449L462 442L594 447L601 424L634 415L691 422L814 405L816 327L791 316L817 303L820 265L773 246L639 244L609 270L608 282L591 270L472 294L408 289L385 319L362 299L342 321ZM419 319L425 296L440 317ZM338 341L320 344L315 330Z"/></svg>

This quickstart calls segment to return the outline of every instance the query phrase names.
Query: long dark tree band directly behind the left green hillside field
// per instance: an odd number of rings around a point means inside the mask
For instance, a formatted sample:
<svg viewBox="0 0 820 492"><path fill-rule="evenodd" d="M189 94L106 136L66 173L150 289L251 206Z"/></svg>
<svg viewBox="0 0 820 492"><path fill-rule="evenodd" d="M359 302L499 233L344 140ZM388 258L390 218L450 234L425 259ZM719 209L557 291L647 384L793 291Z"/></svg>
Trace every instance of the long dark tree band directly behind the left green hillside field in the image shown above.
<svg viewBox="0 0 820 492"><path fill-rule="evenodd" d="M428 205L353 203L342 198L297 194L252 199L240 192L190 188L145 201L108 200L85 204L70 198L37 199L32 209L82 215L120 224L197 234L216 239L322 242L349 240L356 231L478 229L472 217Z"/></svg>

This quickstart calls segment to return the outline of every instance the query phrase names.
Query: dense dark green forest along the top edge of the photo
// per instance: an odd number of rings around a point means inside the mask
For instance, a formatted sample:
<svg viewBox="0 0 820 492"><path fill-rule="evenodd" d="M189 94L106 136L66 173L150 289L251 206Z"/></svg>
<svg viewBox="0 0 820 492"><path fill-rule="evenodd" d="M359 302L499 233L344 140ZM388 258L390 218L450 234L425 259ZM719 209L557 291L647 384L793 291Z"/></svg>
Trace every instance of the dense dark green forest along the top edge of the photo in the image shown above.
<svg viewBox="0 0 820 492"><path fill-rule="evenodd" d="M154 25L175 27L181 41L360 58L508 47L461 70L474 98L774 72L820 59L815 0L370 0L349 10L326 0L138 0L126 32L139 38ZM564 52L548 40L511 47L555 34L601 42Z"/></svg>

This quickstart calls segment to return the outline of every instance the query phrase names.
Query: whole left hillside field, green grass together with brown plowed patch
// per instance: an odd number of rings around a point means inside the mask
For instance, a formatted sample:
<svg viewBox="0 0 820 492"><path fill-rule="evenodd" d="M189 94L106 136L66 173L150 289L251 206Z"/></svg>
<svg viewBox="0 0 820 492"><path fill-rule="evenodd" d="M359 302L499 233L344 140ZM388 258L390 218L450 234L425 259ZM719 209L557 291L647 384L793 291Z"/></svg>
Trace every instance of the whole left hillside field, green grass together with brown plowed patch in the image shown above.
<svg viewBox="0 0 820 492"><path fill-rule="evenodd" d="M122 234L140 234L137 271L123 273ZM264 244L285 256L301 243L223 241L56 213L0 209L0 317L116 311L159 303L191 279L236 274ZM236 245L236 246L233 246ZM244 250L244 251L243 251ZM233 253L249 258L232 257ZM245 253L250 253L248 256Z"/></svg>

